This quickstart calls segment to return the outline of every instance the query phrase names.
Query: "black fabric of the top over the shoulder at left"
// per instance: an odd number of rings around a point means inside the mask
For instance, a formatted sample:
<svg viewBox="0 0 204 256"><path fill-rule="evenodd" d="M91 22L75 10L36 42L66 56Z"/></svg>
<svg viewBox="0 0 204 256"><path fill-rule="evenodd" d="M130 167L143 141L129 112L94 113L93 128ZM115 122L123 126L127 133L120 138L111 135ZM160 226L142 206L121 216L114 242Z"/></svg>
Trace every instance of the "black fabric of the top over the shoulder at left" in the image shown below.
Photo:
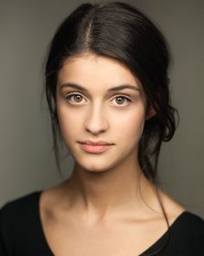
<svg viewBox="0 0 204 256"><path fill-rule="evenodd" d="M0 209L0 255L50 255L41 227L40 196L40 191L27 194Z"/></svg>

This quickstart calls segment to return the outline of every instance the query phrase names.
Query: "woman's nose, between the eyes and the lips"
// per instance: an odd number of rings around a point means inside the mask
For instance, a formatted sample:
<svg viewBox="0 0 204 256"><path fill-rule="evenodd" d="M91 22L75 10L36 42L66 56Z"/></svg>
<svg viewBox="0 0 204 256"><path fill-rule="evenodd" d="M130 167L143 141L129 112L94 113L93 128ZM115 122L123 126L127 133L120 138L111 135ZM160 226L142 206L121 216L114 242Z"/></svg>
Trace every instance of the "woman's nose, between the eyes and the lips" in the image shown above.
<svg viewBox="0 0 204 256"><path fill-rule="evenodd" d="M99 106L95 106L88 110L86 120L84 123L86 131L92 135L99 135L109 128L107 118L105 118L105 111Z"/></svg>

